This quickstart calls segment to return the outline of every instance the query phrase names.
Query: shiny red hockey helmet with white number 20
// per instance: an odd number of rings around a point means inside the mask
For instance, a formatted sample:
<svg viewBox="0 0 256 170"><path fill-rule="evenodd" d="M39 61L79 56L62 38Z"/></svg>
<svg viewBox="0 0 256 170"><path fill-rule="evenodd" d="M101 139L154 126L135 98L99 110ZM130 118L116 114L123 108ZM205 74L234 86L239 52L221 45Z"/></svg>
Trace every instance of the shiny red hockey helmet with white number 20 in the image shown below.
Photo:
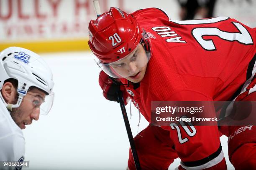
<svg viewBox="0 0 256 170"><path fill-rule="evenodd" d="M111 77L129 76L118 75L109 64L134 53L138 45L145 42L145 37L148 38L146 32L141 30L133 15L116 7L110 7L108 13L89 23L89 47L100 60L98 65Z"/></svg>

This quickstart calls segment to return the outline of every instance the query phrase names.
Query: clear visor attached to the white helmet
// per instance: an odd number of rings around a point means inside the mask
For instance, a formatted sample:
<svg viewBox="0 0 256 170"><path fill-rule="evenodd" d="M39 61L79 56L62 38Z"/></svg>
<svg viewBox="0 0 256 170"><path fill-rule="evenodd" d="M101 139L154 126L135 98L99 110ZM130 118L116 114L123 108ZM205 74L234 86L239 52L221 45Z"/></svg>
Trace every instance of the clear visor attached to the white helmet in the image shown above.
<svg viewBox="0 0 256 170"><path fill-rule="evenodd" d="M54 102L54 93L44 97L39 94L28 92L26 96L23 97L23 100L31 102L34 108L40 108L41 115L48 115Z"/></svg>

